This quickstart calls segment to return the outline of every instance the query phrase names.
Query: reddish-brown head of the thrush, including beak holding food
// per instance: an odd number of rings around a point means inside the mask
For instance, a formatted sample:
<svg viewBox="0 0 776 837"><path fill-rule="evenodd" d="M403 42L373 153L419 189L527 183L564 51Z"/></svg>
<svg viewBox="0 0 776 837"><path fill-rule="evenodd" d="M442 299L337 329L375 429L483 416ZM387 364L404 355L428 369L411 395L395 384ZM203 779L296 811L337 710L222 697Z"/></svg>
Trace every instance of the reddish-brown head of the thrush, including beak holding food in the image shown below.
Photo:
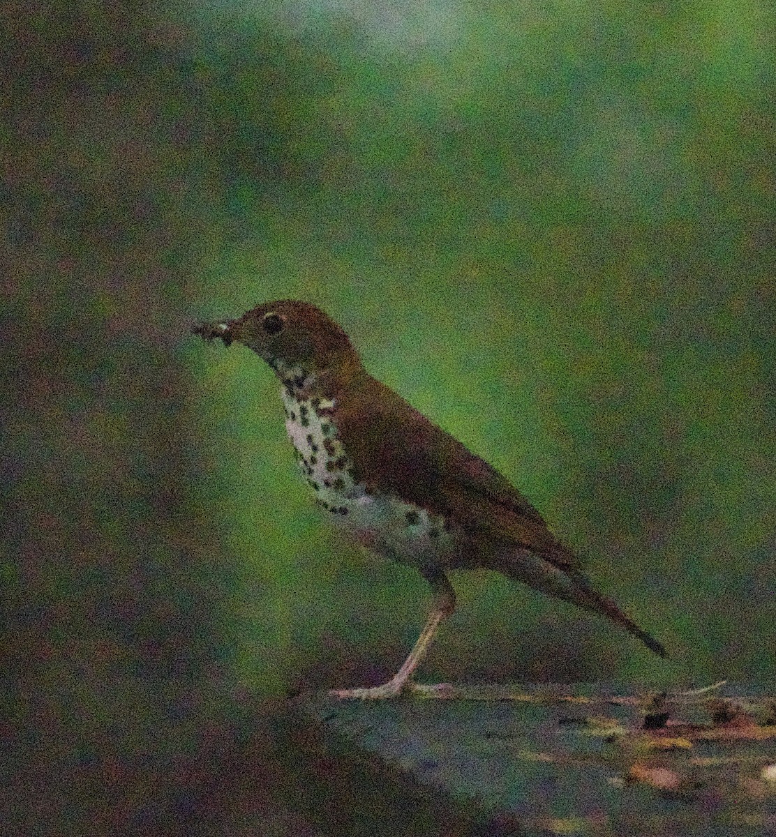
<svg viewBox="0 0 776 837"><path fill-rule="evenodd" d="M227 346L242 343L280 377L290 370L317 377L361 368L345 331L320 308L299 300L266 302L237 320L203 323L193 331L206 340L218 337Z"/></svg>

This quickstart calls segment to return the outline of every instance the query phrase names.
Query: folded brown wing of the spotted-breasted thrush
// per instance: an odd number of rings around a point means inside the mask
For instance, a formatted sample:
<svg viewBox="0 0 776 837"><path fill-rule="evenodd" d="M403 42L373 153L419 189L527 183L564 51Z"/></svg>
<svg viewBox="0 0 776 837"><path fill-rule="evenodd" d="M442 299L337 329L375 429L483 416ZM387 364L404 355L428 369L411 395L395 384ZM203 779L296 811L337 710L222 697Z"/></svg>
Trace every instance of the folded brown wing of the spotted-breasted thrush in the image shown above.
<svg viewBox="0 0 776 837"><path fill-rule="evenodd" d="M506 477L392 389L364 375L337 400L337 428L358 480L479 536L509 542L557 567L577 566L539 512Z"/></svg>

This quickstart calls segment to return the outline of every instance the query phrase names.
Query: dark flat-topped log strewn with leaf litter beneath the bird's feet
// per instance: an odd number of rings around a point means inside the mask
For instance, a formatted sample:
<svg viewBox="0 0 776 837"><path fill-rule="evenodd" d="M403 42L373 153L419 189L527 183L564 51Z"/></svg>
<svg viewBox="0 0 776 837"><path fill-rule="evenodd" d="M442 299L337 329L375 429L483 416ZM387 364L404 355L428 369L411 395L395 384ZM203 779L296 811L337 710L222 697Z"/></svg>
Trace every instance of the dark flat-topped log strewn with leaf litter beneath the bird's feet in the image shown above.
<svg viewBox="0 0 776 837"><path fill-rule="evenodd" d="M297 711L483 834L774 834L776 702L754 689L644 695L593 686L455 687L429 700ZM342 749L340 750L342 751Z"/></svg>

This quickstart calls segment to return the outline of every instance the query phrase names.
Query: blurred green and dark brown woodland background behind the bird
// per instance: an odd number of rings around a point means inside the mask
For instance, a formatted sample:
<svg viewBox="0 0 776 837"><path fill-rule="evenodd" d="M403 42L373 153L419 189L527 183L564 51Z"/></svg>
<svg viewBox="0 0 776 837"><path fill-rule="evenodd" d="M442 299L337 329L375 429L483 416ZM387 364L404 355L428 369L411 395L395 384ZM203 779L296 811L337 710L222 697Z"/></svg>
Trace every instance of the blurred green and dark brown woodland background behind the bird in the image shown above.
<svg viewBox="0 0 776 837"><path fill-rule="evenodd" d="M754 0L3 9L8 833L185 822L245 696L377 683L423 622L312 506L269 369L188 335L275 298L671 649L472 573L424 676L773 681L773 33Z"/></svg>

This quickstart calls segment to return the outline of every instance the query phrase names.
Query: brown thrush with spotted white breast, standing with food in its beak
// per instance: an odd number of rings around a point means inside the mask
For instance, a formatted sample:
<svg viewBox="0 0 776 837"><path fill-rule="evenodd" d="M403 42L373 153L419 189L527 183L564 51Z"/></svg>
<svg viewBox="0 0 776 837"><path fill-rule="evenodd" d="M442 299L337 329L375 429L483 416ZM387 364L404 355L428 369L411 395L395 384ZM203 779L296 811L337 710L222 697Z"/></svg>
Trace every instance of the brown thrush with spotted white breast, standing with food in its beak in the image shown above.
<svg viewBox="0 0 776 837"><path fill-rule="evenodd" d="M280 380L285 429L301 475L353 541L415 567L431 607L419 638L380 686L332 697L384 699L424 692L414 680L439 624L455 610L453 570L486 567L602 614L660 657L665 647L594 589L578 557L486 460L370 375L342 326L301 300L262 303L192 331L253 350ZM438 684L439 687L446 686Z"/></svg>

